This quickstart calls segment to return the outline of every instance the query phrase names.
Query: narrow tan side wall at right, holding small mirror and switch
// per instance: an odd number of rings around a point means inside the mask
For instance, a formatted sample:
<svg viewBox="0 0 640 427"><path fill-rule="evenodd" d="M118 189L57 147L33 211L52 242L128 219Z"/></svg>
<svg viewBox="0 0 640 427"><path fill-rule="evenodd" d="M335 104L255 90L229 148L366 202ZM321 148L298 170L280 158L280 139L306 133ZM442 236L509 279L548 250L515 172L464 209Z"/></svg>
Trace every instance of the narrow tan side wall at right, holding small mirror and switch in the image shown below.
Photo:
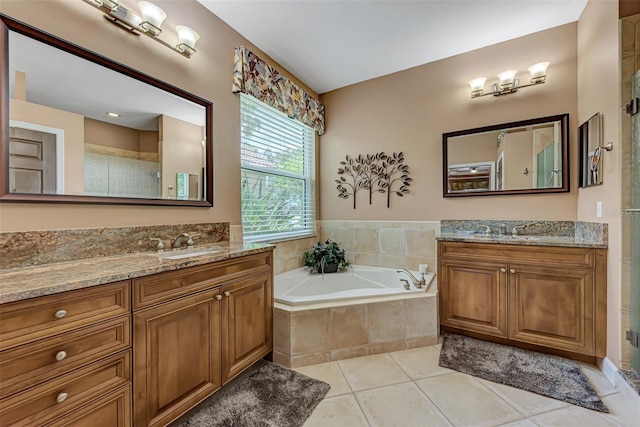
<svg viewBox="0 0 640 427"><path fill-rule="evenodd" d="M578 191L578 219L609 224L607 357L620 366L621 181L619 120L618 2L590 0L578 21L578 121L603 116L604 142L614 149L603 155L603 184ZM576 176L576 174L573 174ZM603 217L596 217L596 202Z"/></svg>

